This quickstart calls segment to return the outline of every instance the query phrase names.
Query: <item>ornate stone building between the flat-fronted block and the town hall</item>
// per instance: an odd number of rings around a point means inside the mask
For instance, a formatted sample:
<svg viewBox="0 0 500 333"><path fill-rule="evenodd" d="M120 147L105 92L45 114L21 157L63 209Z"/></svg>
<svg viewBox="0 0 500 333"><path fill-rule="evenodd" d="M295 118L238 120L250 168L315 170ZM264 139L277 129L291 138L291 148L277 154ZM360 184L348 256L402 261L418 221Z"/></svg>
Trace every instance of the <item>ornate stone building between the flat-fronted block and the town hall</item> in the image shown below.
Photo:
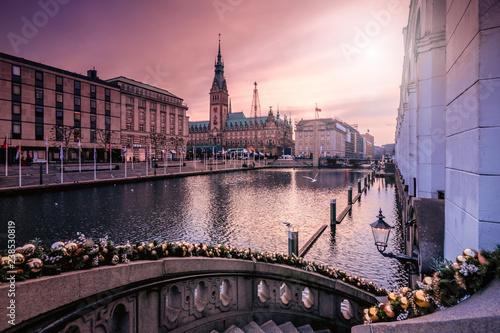
<svg viewBox="0 0 500 333"><path fill-rule="evenodd" d="M188 107L183 99L167 90L123 76L107 80L121 91L119 142L127 147L127 159L145 161L185 156L188 141Z"/></svg>

